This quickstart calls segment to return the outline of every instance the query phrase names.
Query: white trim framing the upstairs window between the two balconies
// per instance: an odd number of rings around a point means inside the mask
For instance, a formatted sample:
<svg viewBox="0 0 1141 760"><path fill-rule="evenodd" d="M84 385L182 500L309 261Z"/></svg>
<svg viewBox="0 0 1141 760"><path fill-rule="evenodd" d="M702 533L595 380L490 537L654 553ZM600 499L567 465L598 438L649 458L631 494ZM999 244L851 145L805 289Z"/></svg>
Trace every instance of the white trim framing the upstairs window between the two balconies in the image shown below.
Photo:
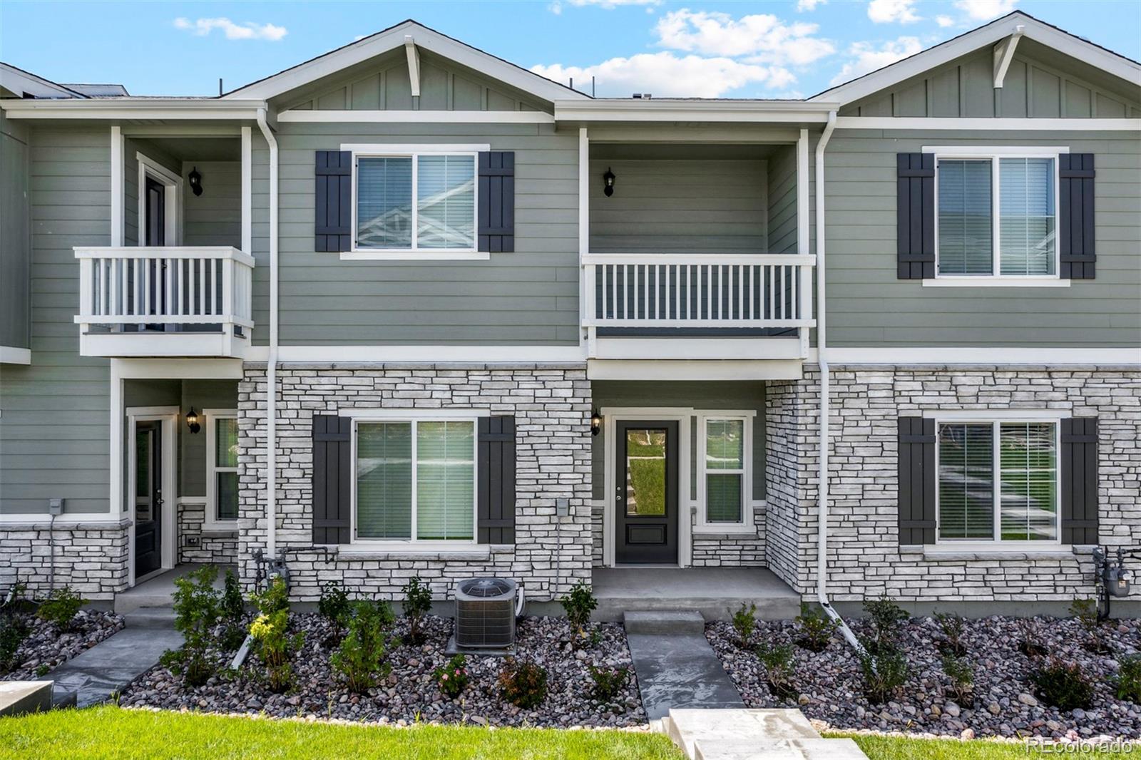
<svg viewBox="0 0 1141 760"><path fill-rule="evenodd" d="M351 250L341 252L341 259L347 261L480 261L491 259L488 251L479 249L479 153L491 149L486 144L385 144L370 143L357 144L347 143L341 145L341 151L349 151L353 154L353 237ZM475 161L475 202L472 203L472 229L475 231L476 245L474 248L459 249L421 249L418 248L418 218L419 202L416 191L419 188L419 157L421 155L470 155ZM411 157L412 159L412 248L357 248L357 159L380 159L380 157Z"/></svg>

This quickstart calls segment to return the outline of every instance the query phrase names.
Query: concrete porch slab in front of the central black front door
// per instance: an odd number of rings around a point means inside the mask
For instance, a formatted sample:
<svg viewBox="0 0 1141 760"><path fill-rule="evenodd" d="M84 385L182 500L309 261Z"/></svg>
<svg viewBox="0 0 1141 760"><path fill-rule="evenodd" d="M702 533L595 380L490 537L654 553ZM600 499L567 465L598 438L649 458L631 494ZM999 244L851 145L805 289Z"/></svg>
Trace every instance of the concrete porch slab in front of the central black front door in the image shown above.
<svg viewBox="0 0 1141 760"><path fill-rule="evenodd" d="M626 612L689 609L705 620L729 620L742 603L761 620L800 614L800 595L764 567L596 567L597 621Z"/></svg>

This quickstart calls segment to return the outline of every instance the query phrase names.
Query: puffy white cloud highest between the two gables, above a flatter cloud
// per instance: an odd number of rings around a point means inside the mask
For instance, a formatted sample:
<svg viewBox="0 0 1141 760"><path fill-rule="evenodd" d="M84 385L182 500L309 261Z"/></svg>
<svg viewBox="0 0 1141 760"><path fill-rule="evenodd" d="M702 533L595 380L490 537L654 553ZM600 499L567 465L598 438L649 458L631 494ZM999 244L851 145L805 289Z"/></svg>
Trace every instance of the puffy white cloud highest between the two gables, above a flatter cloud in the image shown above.
<svg viewBox="0 0 1141 760"><path fill-rule="evenodd" d="M657 22L662 47L711 56L750 56L748 63L810 64L835 52L814 37L816 24L786 24L771 14L734 18L715 11L674 10Z"/></svg>

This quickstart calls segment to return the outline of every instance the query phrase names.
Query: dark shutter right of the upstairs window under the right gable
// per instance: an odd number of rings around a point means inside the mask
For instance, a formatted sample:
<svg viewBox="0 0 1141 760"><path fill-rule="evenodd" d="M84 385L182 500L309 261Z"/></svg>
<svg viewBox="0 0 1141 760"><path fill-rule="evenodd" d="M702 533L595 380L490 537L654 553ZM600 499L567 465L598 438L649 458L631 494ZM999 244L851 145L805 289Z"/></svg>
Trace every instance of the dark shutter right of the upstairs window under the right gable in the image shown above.
<svg viewBox="0 0 1141 760"><path fill-rule="evenodd" d="M1062 153L1058 161L1059 274L1063 278L1093 280L1098 260L1093 250L1093 154Z"/></svg>

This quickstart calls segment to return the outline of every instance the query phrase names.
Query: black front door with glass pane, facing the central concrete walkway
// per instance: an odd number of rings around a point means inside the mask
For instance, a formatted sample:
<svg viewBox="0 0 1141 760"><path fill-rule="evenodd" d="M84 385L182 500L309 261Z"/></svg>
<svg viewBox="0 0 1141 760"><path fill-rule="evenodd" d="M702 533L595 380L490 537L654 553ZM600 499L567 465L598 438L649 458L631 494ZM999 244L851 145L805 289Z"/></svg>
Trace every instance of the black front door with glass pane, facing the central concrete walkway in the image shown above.
<svg viewBox="0 0 1141 760"><path fill-rule="evenodd" d="M614 561L678 563L678 422L616 420Z"/></svg>

